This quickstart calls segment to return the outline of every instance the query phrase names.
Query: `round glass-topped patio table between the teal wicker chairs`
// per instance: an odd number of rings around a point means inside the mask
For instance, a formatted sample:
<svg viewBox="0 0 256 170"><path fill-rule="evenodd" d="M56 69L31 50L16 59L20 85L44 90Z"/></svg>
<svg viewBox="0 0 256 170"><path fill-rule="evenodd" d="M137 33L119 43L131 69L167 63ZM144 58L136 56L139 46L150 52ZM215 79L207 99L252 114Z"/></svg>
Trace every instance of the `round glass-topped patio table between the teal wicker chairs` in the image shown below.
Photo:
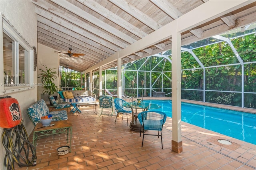
<svg viewBox="0 0 256 170"><path fill-rule="evenodd" d="M130 129L131 130L136 130L136 131L140 131L140 121L137 120L138 117L138 109L142 109L142 111L147 111L148 109L158 109L161 106L154 104L154 103L146 103L146 102L141 102L141 103L137 103L137 102L126 102L123 104L124 107L129 107L132 109L132 121L130 122ZM135 112L134 112L135 109ZM136 118L134 120L134 117Z"/></svg>

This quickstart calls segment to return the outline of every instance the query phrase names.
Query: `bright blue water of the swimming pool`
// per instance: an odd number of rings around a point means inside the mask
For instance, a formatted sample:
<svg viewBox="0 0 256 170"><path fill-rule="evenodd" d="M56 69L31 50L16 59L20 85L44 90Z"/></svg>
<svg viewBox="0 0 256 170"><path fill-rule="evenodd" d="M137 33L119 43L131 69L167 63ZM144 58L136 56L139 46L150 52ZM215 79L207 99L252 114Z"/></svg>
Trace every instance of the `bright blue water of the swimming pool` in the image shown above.
<svg viewBox="0 0 256 170"><path fill-rule="evenodd" d="M144 100L161 106L157 111L172 117L172 101ZM256 144L256 114L207 107L190 103L181 104L181 119L226 136Z"/></svg>

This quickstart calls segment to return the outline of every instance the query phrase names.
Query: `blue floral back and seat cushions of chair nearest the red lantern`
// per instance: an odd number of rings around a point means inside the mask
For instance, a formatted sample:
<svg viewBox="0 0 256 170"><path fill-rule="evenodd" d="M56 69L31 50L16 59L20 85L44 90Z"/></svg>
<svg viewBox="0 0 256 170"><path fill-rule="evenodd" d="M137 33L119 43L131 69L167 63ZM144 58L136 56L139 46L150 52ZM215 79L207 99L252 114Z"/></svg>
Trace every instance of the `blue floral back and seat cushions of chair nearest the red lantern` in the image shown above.
<svg viewBox="0 0 256 170"><path fill-rule="evenodd" d="M28 107L27 113L34 125L41 121L41 117L49 114L52 114L52 121L68 120L66 110L49 112L49 108L43 99Z"/></svg>

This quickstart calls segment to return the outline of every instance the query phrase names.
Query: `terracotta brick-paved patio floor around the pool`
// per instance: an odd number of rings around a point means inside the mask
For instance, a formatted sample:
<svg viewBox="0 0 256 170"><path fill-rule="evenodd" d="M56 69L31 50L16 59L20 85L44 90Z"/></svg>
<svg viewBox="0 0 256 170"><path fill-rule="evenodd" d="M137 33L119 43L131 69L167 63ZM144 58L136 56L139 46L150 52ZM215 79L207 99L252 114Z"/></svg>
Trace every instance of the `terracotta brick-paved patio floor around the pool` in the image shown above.
<svg viewBox="0 0 256 170"><path fill-rule="evenodd" d="M256 145L182 122L183 152L171 149L172 119L167 118L163 147L157 136L132 131L126 118L111 116L103 109L100 117L92 107L81 108L79 115L69 114L73 125L72 152L59 156L56 149L66 145L66 135L56 134L37 140L37 165L16 170L255 170ZM98 109L98 113L101 109ZM131 115L128 115L131 120ZM224 139L231 145L220 144ZM30 134L30 141L32 134Z"/></svg>

